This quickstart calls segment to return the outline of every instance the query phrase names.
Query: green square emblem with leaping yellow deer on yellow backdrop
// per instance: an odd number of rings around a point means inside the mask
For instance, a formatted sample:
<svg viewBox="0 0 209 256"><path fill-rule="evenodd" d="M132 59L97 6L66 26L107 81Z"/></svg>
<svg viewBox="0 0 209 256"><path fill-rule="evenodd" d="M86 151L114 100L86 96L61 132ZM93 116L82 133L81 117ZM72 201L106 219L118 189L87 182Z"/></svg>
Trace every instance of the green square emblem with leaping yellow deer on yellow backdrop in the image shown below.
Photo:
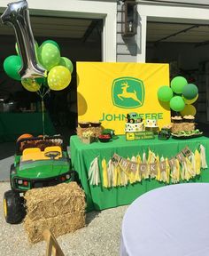
<svg viewBox="0 0 209 256"><path fill-rule="evenodd" d="M143 106L143 81L134 77L120 77L112 83L112 102L119 108L138 108Z"/></svg>

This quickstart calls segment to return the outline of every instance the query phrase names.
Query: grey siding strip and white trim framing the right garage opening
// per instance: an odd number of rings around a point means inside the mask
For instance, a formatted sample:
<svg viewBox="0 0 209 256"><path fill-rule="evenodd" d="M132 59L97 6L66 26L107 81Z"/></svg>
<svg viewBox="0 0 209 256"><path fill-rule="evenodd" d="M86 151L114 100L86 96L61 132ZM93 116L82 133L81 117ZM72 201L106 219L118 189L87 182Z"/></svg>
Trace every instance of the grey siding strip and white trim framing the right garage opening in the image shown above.
<svg viewBox="0 0 209 256"><path fill-rule="evenodd" d="M159 3L162 2L162 3ZM169 6L171 3L174 6ZM204 0L175 0L175 1L140 1L137 3L137 34L132 37L121 36L122 28L122 2L117 4L117 61L119 62L146 62L146 23L147 20L161 20L179 22L209 23L209 10L203 9L208 1ZM182 6L181 4L190 4ZM203 4L194 6L193 4ZM191 6L193 6L191 8ZM201 15L200 15L201 13Z"/></svg>

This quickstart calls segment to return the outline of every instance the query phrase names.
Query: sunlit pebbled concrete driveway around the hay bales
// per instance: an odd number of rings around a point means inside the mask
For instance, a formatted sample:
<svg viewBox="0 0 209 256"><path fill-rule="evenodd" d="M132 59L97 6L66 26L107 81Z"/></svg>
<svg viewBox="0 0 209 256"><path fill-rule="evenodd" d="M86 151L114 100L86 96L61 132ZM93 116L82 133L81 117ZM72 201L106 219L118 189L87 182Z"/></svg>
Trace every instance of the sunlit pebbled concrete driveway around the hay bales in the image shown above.
<svg viewBox="0 0 209 256"><path fill-rule="evenodd" d="M10 225L4 220L3 196L9 182L0 182L0 255L45 255L46 243L30 244L23 224ZM87 226L58 237L66 256L117 256L120 251L121 222L128 206L87 213Z"/></svg>

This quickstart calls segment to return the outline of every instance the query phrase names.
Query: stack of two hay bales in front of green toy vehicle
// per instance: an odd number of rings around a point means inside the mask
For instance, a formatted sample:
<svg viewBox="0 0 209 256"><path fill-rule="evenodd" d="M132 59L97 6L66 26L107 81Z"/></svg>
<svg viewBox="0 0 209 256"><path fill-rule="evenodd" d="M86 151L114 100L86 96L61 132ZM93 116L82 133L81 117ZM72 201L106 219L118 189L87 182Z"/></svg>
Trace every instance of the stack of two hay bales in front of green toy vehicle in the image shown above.
<svg viewBox="0 0 209 256"><path fill-rule="evenodd" d="M24 228L31 243L43 240L48 228L57 237L85 226L85 194L76 182L28 190Z"/></svg>

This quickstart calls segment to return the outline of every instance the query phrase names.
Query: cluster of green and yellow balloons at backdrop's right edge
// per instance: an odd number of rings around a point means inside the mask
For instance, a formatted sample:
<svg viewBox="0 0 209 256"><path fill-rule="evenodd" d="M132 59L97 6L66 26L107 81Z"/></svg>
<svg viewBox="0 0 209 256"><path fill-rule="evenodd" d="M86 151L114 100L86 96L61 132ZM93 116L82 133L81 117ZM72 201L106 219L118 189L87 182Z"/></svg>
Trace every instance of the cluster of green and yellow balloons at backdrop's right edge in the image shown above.
<svg viewBox="0 0 209 256"><path fill-rule="evenodd" d="M175 76L170 85L171 87L166 85L159 87L159 100L169 102L170 108L175 112L180 112L182 116L195 116L197 110L191 104L198 98L197 85L188 84L183 76Z"/></svg>

